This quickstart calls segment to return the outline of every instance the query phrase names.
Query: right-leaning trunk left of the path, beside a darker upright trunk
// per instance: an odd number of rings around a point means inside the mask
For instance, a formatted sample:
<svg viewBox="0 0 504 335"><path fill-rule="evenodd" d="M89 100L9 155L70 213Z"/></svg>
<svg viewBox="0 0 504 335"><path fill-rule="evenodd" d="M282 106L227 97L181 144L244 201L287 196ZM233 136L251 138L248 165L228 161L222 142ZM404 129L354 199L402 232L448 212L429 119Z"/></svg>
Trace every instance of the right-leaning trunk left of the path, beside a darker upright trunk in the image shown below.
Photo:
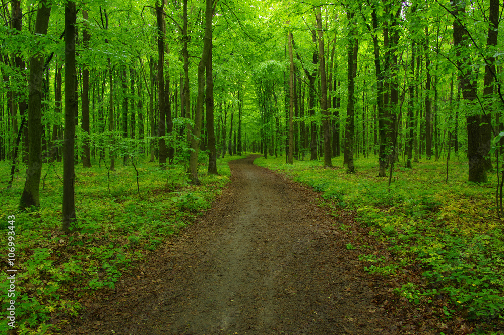
<svg viewBox="0 0 504 335"><path fill-rule="evenodd" d="M186 0L184 1L184 3ZM194 116L194 131L191 143L191 157L189 160L189 171L191 183L200 185L198 179L198 153L200 149L200 133L201 133L201 119L203 109L203 96L205 94L205 68L208 64L210 56L210 46L212 42L212 14L213 6L212 0L206 0L205 10L205 38L203 39L203 51L201 54L200 63L198 64L198 95L196 98L196 110Z"/></svg>

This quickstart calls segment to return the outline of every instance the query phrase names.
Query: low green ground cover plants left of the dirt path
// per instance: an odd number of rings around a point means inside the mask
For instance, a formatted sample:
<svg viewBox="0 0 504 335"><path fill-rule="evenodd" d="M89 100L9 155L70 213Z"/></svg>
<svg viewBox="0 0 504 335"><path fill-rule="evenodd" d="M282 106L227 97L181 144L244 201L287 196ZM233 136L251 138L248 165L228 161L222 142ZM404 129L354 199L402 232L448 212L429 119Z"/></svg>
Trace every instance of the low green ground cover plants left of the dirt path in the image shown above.
<svg viewBox="0 0 504 335"><path fill-rule="evenodd" d="M61 163L50 167L41 189L41 206L19 211L24 178L17 173L12 188L7 187L10 166L0 164L2 209L0 233L8 229L8 216L15 216L16 324L18 334L53 333L64 327L92 300L114 290L115 282L141 263L142 259L181 228L208 209L212 199L228 182L227 162L240 156L218 160L219 175L201 174L202 186L188 183L181 165L160 169L148 160L106 168L93 162L92 168L76 169L76 211L80 230L61 232ZM201 167L203 170L204 167ZM206 167L205 167L206 168ZM44 171L45 172L45 171ZM110 177L110 191L108 188ZM7 238L0 248L7 249ZM6 320L6 263L2 263L2 312ZM0 333L7 333L6 322Z"/></svg>

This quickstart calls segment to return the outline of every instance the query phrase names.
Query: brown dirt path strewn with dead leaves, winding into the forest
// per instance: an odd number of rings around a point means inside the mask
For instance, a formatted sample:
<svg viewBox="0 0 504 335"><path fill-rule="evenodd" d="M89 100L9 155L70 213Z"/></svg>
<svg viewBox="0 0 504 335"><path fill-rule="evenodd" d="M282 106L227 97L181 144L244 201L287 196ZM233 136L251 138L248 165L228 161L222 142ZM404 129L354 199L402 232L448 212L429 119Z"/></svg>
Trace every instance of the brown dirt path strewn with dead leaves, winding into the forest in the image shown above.
<svg viewBox="0 0 504 335"><path fill-rule="evenodd" d="M355 245L386 251L355 213L330 215L320 193L256 157L230 162L231 182L212 208L64 333L469 333L461 320L441 324L399 299L394 279L364 271Z"/></svg>

